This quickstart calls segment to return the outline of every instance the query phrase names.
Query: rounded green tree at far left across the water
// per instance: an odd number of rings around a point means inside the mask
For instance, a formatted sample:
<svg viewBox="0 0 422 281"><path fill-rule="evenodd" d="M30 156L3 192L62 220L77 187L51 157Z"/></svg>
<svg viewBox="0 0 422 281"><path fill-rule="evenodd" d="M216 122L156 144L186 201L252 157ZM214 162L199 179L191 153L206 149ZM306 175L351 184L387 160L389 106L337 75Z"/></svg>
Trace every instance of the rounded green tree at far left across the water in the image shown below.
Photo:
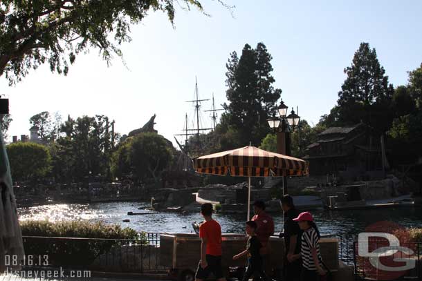
<svg viewBox="0 0 422 281"><path fill-rule="evenodd" d="M7 146L10 170L14 180L37 180L51 169L51 156L46 146L15 142Z"/></svg>

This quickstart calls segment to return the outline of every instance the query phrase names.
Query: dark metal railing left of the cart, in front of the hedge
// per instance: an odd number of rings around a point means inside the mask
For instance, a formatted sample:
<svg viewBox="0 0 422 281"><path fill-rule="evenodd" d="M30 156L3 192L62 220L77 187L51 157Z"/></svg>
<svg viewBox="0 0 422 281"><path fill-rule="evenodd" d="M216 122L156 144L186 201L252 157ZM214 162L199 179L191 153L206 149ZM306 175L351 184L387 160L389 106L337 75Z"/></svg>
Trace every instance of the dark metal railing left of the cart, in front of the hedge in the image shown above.
<svg viewBox="0 0 422 281"><path fill-rule="evenodd" d="M161 273L160 235L138 240L24 236L25 267L62 267L92 271Z"/></svg>

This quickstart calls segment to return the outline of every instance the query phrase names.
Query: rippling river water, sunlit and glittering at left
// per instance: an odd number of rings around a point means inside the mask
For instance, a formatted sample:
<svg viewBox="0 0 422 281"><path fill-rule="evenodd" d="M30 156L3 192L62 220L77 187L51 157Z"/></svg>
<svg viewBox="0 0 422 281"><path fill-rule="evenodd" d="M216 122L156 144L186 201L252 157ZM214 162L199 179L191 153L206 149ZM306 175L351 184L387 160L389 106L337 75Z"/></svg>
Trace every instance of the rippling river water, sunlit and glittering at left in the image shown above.
<svg viewBox="0 0 422 281"><path fill-rule="evenodd" d="M89 220L129 226L136 231L192 233L192 222L201 222L199 213L158 213L147 210L143 202L107 202L95 204L51 204L19 208L20 220ZM140 209L138 209L140 208ZM127 215L127 212L150 213ZM422 227L422 206L347 211L311 211L323 234L349 235L364 231L374 222L389 220L406 227ZM272 214L275 232L282 231L282 214ZM215 214L223 232L243 233L246 215ZM129 219L130 222L122 222Z"/></svg>

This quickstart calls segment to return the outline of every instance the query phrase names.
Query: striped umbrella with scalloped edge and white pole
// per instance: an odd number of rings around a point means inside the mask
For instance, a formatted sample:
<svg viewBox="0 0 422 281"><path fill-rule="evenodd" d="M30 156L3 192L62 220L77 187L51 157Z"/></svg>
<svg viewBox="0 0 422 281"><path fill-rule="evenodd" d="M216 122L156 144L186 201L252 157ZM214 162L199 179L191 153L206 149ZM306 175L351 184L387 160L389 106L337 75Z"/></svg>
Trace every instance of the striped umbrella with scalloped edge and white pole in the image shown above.
<svg viewBox="0 0 422 281"><path fill-rule="evenodd" d="M194 169L197 173L208 175L232 175L248 177L248 220L250 213L250 177L284 177L307 175L308 162L245 146L210 155L194 158Z"/></svg>

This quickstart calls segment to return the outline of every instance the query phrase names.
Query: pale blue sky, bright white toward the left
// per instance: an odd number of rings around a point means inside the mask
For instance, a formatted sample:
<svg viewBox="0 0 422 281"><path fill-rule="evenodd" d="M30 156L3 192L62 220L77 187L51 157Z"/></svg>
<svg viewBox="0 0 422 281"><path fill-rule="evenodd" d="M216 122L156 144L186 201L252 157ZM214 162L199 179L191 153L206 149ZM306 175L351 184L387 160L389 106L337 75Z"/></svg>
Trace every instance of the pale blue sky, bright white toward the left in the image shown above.
<svg viewBox="0 0 422 281"><path fill-rule="evenodd" d="M163 12L150 12L131 27L130 43L107 67L92 49L77 57L66 77L48 65L32 70L16 86L0 77L0 94L10 99L8 135L29 135L29 118L59 112L64 119L102 114L127 134L156 114L158 133L173 141L182 133L185 113L193 117L195 77L199 97L216 106L226 102L226 62L245 43L263 42L273 56L274 86L288 106L317 124L336 104L361 42L376 48L381 66L394 86L407 84L407 71L422 63L422 1L284 1L201 0L196 9L178 9L172 26ZM203 110L211 108L203 102ZM210 126L208 113L203 126ZM190 125L192 126L192 125Z"/></svg>

